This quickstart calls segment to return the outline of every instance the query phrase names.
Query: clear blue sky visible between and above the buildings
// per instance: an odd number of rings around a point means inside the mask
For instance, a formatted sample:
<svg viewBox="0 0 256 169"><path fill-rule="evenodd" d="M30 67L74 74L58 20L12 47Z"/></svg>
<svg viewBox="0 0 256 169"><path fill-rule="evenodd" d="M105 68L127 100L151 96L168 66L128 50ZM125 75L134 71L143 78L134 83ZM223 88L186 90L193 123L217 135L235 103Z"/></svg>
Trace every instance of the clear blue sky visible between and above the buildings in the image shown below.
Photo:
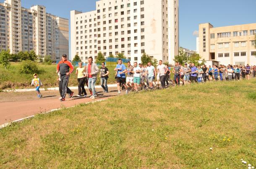
<svg viewBox="0 0 256 169"><path fill-rule="evenodd" d="M21 0L21 5L44 5L47 13L70 19L70 11L95 10L97 0ZM3 2L3 0L0 0ZM256 23L256 0L180 0L180 46L196 50L199 23L214 27Z"/></svg>

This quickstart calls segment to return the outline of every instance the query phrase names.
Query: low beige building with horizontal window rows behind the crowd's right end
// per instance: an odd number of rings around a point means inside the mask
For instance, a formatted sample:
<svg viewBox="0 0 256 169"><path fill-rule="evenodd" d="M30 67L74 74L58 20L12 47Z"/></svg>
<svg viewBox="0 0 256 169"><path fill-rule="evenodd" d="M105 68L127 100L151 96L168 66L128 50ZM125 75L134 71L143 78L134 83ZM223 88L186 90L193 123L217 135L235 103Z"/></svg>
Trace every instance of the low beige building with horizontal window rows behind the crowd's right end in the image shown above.
<svg viewBox="0 0 256 169"><path fill-rule="evenodd" d="M214 28L199 24L199 54L219 64L256 65L256 23Z"/></svg>

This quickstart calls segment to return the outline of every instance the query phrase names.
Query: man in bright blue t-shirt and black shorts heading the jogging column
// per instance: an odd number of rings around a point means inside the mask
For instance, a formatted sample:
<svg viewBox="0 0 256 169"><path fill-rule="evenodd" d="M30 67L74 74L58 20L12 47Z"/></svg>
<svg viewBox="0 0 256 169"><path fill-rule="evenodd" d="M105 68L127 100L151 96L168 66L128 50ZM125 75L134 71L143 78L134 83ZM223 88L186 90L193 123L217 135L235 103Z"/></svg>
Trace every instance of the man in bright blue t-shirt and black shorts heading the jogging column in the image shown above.
<svg viewBox="0 0 256 169"><path fill-rule="evenodd" d="M118 64L116 65L115 71L117 71L117 85L118 85L118 95L121 94L120 91L120 83L125 87L126 94L128 94L127 85L125 84L125 72L127 72L127 69L124 64L122 64L122 59L118 59Z"/></svg>

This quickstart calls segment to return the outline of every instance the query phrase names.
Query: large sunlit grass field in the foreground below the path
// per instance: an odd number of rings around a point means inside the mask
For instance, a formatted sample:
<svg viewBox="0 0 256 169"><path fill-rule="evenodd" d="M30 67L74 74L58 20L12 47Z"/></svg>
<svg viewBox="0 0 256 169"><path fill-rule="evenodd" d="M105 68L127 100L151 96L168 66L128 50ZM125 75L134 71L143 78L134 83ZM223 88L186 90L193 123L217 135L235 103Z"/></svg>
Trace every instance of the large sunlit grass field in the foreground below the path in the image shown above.
<svg viewBox="0 0 256 169"><path fill-rule="evenodd" d="M0 130L1 168L256 166L256 79L78 105ZM210 150L212 148L212 150Z"/></svg>

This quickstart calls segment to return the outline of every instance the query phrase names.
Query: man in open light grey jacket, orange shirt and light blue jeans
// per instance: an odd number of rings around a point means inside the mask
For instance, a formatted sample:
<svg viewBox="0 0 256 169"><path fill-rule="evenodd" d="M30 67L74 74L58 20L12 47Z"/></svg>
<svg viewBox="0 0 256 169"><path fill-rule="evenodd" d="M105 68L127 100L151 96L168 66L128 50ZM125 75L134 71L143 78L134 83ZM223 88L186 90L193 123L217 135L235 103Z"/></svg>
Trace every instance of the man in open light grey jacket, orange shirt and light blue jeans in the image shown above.
<svg viewBox="0 0 256 169"><path fill-rule="evenodd" d="M87 73L87 76L89 77L88 88L89 90L92 90L92 95L90 98L95 99L95 97L97 96L97 93L95 90L95 83L97 80L97 74L99 73L99 68L97 64L93 63L92 61L93 61L92 57L89 57L86 73Z"/></svg>

